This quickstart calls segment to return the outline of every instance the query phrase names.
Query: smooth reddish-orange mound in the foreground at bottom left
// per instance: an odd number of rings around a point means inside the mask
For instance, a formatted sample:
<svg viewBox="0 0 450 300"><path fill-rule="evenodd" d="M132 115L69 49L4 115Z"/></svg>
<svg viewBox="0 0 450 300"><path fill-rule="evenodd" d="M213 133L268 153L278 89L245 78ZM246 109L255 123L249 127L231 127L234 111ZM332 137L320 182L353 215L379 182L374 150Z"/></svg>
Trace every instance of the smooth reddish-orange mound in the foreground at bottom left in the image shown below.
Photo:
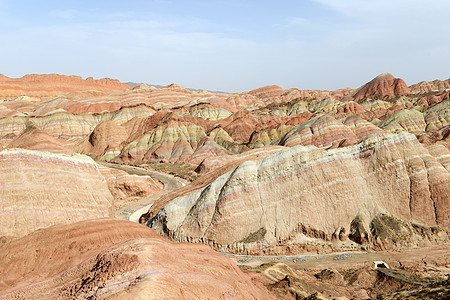
<svg viewBox="0 0 450 300"><path fill-rule="evenodd" d="M0 246L0 298L274 299L225 256L96 219Z"/></svg>

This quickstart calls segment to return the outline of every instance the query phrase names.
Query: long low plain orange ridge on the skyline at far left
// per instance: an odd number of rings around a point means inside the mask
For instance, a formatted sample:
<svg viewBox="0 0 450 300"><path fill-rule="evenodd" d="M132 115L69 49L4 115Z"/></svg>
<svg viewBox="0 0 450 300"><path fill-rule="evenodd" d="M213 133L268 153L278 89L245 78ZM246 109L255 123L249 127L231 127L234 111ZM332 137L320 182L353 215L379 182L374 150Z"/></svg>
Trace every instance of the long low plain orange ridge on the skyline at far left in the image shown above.
<svg viewBox="0 0 450 300"><path fill-rule="evenodd" d="M79 76L58 74L31 74L21 78L9 78L0 74L0 98L5 99L14 99L22 95L49 97L82 91L110 94L130 88L128 84L109 78L82 79Z"/></svg>

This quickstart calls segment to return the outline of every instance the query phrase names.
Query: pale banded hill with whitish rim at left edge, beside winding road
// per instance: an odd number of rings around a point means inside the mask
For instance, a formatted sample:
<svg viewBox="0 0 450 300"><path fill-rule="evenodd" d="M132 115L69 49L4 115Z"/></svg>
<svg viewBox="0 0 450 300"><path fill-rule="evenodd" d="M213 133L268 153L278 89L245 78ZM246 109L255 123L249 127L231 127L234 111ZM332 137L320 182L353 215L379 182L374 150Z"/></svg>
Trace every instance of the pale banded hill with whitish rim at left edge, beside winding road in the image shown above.
<svg viewBox="0 0 450 300"><path fill-rule="evenodd" d="M87 156L0 151L0 236L113 215L113 198Z"/></svg>

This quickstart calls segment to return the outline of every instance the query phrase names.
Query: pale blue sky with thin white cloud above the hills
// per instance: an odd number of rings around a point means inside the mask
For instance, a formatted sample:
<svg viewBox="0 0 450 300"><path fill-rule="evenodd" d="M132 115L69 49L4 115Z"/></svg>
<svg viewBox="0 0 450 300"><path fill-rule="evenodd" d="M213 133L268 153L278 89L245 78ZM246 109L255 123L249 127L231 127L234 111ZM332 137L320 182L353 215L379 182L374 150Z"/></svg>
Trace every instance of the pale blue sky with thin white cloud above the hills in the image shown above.
<svg viewBox="0 0 450 300"><path fill-rule="evenodd" d="M0 0L0 73L242 92L450 78L448 0Z"/></svg>

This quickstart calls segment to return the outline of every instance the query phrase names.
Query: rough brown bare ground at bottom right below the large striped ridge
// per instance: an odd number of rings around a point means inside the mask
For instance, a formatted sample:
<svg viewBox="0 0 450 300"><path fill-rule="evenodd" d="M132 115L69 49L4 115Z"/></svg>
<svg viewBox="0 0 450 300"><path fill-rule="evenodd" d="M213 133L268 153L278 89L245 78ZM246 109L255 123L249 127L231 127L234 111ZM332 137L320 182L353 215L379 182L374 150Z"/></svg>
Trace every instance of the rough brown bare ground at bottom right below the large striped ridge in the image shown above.
<svg viewBox="0 0 450 300"><path fill-rule="evenodd" d="M346 252L296 256L230 255L242 270L270 279L284 299L448 299L450 245L395 252ZM374 262L390 269L374 269ZM313 298L315 299L315 298Z"/></svg>

